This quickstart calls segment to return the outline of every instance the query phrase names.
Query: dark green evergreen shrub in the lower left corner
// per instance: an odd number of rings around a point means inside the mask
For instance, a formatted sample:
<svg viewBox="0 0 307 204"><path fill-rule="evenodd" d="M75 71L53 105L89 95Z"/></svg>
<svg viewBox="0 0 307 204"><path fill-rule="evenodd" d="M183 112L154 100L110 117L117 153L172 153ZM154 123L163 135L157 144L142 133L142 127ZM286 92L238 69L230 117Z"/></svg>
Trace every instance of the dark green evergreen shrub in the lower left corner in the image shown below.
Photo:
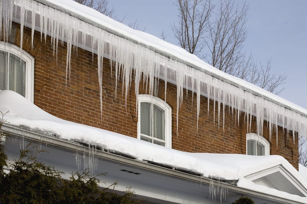
<svg viewBox="0 0 307 204"><path fill-rule="evenodd" d="M5 122L0 121L0 128ZM37 161L29 145L20 150L20 157L8 163L7 155L0 137L0 202L1 203L107 203L137 204L132 201L134 192L127 188L123 195L115 193L117 183L108 188L99 188L97 176L83 173L71 173L69 180L62 178L63 172ZM4 169L9 170L4 170ZM102 174L103 175L103 174ZM99 176L99 175L98 175ZM110 187L113 187L110 189Z"/></svg>

